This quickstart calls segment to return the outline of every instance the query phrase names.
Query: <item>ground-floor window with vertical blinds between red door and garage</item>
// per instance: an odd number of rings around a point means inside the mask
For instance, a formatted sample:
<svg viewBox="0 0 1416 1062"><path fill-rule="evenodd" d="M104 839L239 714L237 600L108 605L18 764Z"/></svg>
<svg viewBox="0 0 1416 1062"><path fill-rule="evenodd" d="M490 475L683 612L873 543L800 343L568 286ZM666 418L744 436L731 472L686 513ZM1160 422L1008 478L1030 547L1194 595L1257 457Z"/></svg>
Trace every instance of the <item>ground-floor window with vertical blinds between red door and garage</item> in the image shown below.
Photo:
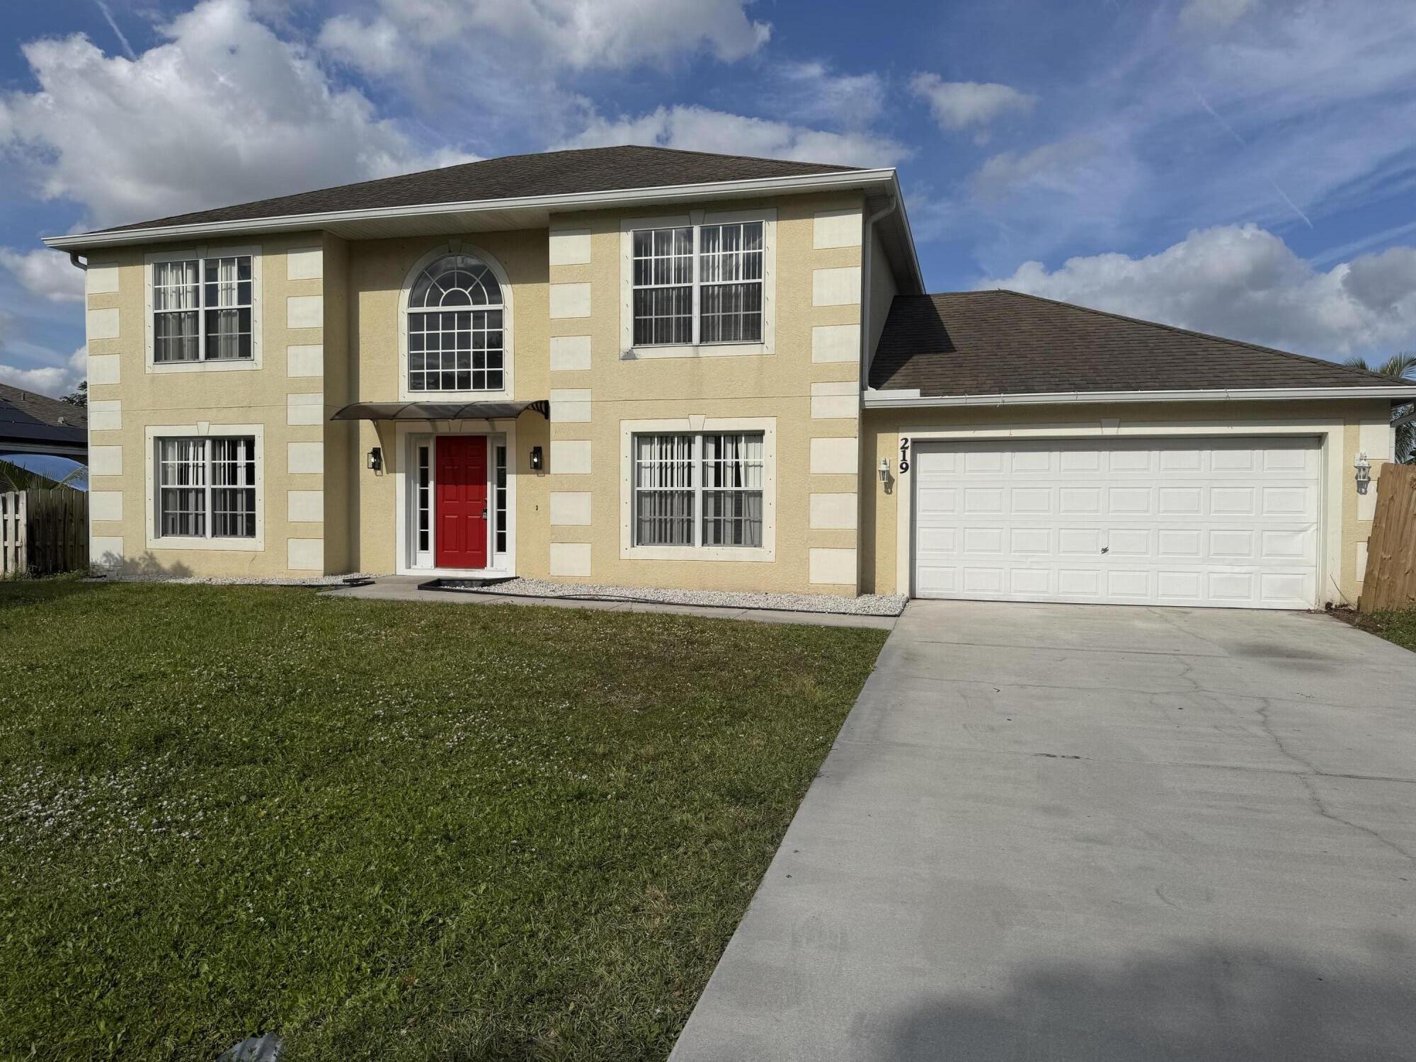
<svg viewBox="0 0 1416 1062"><path fill-rule="evenodd" d="M762 547L762 433L634 436L634 545Z"/></svg>

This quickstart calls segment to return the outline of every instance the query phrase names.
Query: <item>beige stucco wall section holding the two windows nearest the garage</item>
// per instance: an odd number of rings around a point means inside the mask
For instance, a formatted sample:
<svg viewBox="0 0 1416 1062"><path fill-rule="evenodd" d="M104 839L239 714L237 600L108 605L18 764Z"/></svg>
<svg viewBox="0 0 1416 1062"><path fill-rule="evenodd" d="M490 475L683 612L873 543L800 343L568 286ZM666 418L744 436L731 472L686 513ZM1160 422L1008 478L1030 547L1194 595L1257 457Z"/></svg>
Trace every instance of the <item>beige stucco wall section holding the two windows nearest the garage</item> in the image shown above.
<svg viewBox="0 0 1416 1062"><path fill-rule="evenodd" d="M589 236L590 261L552 265L549 279L552 285L589 285L590 316L554 319L551 334L588 337L590 358L588 368L551 372L551 440L552 447L589 442L590 470L558 472L552 460L549 489L588 493L590 523L549 528L556 559L549 573L626 586L855 593L854 500L850 520L818 518L816 527L811 520L813 494L855 494L858 476L850 467L855 462L828 463L818 453L813 470L811 455L813 440L841 440L855 453L861 208L860 195L712 204L708 221L718 214L775 211L766 290L773 313L772 348L745 355L721 355L708 347L691 357L622 358L622 314L627 312L622 229L626 219L663 218L666 211L612 210L555 221L554 232ZM588 421L561 419L556 396L566 391L589 392ZM656 419L677 421L683 429L700 423L712 429L715 421L773 422L776 460L767 469L775 498L773 561L697 559L691 551L685 551L691 559L683 561L624 555L629 462L622 425ZM586 555L589 565L576 566Z"/></svg>

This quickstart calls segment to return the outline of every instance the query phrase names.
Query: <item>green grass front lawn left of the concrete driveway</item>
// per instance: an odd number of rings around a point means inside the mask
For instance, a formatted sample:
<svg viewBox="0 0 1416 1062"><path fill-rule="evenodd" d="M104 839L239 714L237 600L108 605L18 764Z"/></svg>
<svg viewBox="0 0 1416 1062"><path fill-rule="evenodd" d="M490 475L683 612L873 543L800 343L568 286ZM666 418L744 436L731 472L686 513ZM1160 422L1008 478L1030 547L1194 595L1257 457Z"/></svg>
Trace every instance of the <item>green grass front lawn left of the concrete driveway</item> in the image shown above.
<svg viewBox="0 0 1416 1062"><path fill-rule="evenodd" d="M661 1059L882 641L0 585L0 1058Z"/></svg>

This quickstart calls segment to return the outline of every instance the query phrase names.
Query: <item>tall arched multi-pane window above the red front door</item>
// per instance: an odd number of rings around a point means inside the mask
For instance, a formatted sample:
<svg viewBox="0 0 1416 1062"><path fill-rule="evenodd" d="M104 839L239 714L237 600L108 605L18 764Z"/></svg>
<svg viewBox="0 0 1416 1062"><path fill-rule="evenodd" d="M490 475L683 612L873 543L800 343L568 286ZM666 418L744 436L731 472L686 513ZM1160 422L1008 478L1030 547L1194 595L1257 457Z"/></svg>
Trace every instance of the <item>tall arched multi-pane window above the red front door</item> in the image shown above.
<svg viewBox="0 0 1416 1062"><path fill-rule="evenodd" d="M408 295L408 389L503 391L501 285L472 255L445 255Z"/></svg>

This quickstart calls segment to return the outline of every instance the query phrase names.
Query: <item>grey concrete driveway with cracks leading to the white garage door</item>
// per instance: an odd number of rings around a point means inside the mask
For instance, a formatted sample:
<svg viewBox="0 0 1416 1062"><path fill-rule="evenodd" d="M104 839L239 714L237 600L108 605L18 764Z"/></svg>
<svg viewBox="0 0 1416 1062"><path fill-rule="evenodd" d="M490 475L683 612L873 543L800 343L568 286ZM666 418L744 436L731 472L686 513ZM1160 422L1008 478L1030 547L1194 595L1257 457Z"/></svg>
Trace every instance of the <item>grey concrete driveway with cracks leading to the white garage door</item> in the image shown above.
<svg viewBox="0 0 1416 1062"><path fill-rule="evenodd" d="M916 602L673 1062L1416 1058L1416 654Z"/></svg>

